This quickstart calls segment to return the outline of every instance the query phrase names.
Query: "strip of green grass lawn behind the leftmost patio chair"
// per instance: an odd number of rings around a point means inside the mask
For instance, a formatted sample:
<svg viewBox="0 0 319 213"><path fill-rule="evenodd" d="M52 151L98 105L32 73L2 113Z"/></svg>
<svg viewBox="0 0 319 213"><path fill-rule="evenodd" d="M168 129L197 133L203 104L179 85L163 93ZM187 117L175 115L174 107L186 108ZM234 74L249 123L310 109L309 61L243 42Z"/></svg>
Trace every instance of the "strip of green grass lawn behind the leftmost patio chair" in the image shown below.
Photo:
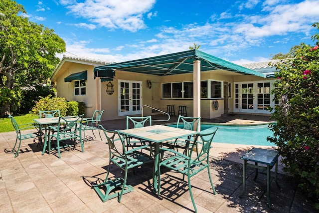
<svg viewBox="0 0 319 213"><path fill-rule="evenodd" d="M15 121L20 125L20 124L25 124L25 123L34 123L33 118L38 118L39 115L35 114L25 114L25 115L18 115L18 116L13 116ZM9 118L0 118L0 132L12 132L15 131L11 121Z"/></svg>

